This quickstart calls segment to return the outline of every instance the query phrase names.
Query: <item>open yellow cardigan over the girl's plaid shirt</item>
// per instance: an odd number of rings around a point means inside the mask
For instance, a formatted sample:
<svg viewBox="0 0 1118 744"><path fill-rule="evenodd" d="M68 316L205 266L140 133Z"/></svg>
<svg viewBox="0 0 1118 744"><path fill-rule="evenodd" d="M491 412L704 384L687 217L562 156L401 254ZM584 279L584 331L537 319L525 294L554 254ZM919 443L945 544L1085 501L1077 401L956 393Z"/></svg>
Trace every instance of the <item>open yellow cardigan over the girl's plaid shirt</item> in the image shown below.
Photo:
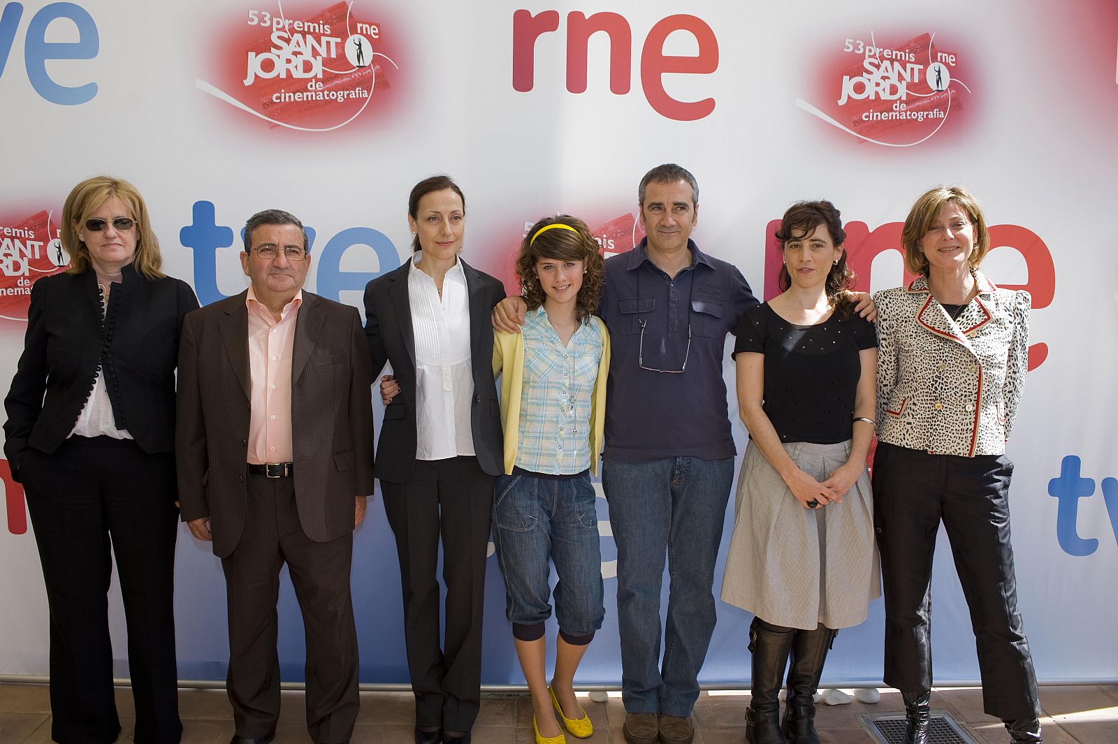
<svg viewBox="0 0 1118 744"><path fill-rule="evenodd" d="M590 399L590 469L598 475L603 432L606 428L606 375L609 374L609 332L596 315L590 316L601 333L601 361ZM501 375L501 428L504 429L504 473L512 475L520 446L520 399L524 384L524 336L493 332L493 378Z"/></svg>

